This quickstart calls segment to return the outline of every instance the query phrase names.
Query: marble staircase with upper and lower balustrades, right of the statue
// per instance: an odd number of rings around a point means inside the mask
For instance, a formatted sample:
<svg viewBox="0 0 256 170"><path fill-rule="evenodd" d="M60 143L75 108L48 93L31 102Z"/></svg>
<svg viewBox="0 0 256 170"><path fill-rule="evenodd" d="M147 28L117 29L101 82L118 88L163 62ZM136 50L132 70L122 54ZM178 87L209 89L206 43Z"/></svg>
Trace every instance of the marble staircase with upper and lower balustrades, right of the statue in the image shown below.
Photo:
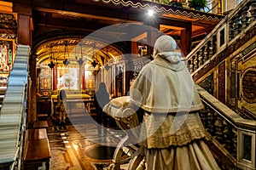
<svg viewBox="0 0 256 170"><path fill-rule="evenodd" d="M239 91L243 70L238 71L237 63L241 59L241 66L255 52L255 24L256 1L244 0L186 57L193 79L201 86L205 105L201 121L221 169L256 169L255 116L236 108L243 98ZM245 99L239 103L243 104L249 105Z"/></svg>

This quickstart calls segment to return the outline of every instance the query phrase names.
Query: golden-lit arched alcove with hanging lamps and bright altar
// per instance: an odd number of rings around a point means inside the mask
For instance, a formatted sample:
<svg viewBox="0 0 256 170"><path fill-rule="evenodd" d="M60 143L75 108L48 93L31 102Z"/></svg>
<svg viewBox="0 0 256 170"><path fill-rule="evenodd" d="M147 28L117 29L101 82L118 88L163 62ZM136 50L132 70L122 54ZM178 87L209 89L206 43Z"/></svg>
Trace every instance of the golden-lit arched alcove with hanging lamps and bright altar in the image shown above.
<svg viewBox="0 0 256 170"><path fill-rule="evenodd" d="M117 83L124 67L124 49L95 39L79 36L54 37L38 42L33 50L37 56L38 111L53 112L53 102L60 89L68 97L92 100L99 82L105 82L109 94L123 92ZM119 90L119 91L117 91ZM51 105L51 111L44 111Z"/></svg>

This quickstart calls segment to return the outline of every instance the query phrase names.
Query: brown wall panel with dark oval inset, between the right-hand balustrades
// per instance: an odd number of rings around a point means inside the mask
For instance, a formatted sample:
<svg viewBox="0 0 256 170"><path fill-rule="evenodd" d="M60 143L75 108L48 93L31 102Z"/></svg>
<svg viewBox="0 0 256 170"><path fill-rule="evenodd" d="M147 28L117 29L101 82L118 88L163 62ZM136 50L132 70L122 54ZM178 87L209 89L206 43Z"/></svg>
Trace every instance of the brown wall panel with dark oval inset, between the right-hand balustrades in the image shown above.
<svg viewBox="0 0 256 170"><path fill-rule="evenodd" d="M231 104L250 118L256 118L256 42L242 49L231 62ZM236 89L234 89L236 88ZM234 95L235 93L235 95Z"/></svg>

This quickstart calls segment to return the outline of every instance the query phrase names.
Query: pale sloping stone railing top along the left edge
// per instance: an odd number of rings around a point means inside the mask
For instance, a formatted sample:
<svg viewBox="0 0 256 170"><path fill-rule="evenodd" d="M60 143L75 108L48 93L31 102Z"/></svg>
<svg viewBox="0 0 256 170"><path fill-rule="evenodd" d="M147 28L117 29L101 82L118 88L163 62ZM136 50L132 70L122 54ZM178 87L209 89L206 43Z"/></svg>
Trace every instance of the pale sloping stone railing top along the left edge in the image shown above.
<svg viewBox="0 0 256 170"><path fill-rule="evenodd" d="M20 169L26 130L29 47L19 45L0 112L0 169Z"/></svg>

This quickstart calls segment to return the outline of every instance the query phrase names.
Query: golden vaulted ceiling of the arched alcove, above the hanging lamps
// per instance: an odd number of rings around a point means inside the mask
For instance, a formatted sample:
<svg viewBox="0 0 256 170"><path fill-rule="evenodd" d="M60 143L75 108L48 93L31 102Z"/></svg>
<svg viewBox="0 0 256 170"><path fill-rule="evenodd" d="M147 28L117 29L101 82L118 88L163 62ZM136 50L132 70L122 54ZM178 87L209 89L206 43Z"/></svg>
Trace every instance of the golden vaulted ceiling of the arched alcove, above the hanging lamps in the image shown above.
<svg viewBox="0 0 256 170"><path fill-rule="evenodd" d="M38 55L38 64L45 59L53 59L55 63L62 63L63 60L68 59L71 64L78 64L77 60L81 58L90 62L96 60L99 65L106 65L109 60L119 60L122 52L100 41L81 37L62 37L40 44L35 54Z"/></svg>

